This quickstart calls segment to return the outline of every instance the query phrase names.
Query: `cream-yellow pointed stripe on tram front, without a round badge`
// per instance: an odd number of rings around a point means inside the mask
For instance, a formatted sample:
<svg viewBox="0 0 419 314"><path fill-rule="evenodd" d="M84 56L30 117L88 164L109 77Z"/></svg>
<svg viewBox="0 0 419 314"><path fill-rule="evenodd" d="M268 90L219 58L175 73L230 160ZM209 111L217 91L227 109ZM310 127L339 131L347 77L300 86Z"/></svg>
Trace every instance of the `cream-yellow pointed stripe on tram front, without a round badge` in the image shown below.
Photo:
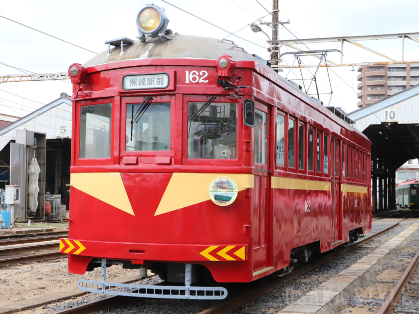
<svg viewBox="0 0 419 314"><path fill-rule="evenodd" d="M119 172L71 173L70 186L134 215Z"/></svg>

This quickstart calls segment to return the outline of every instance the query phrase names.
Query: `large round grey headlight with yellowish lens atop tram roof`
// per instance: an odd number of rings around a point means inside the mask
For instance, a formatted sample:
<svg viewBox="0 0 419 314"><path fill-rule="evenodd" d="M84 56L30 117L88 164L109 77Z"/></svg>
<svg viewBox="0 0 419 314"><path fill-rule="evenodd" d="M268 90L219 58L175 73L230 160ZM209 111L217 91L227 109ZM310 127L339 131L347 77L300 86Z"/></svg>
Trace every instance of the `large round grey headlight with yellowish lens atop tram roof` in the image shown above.
<svg viewBox="0 0 419 314"><path fill-rule="evenodd" d="M149 4L142 8L137 15L137 27L139 38L141 41L146 40L146 36L168 38L165 35L169 19L163 8L154 4Z"/></svg>

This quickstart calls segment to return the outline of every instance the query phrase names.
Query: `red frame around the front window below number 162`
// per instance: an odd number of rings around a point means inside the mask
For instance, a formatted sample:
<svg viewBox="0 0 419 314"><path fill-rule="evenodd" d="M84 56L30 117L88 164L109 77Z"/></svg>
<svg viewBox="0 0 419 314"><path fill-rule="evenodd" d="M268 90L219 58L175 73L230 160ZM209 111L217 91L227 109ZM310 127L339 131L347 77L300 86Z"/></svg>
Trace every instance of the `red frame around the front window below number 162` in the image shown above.
<svg viewBox="0 0 419 314"><path fill-rule="evenodd" d="M215 96L216 99L213 103L234 103L237 104L237 158L236 159L194 159L188 158L188 114L189 114L189 103L190 102L200 102L205 103L211 96ZM231 96L224 95L183 95L182 100L182 114L183 114L183 126L182 126L182 164L192 164L192 165L242 165L243 164L243 99L234 99ZM255 109L265 112L266 110L261 110L259 104L255 101ZM179 108L180 106L178 106ZM173 110L175 111L175 110ZM179 123L179 122L177 122ZM252 128L250 128L252 129ZM253 132L252 132L253 139ZM179 145L179 143L177 144ZM251 153L253 154L253 142L250 143ZM268 147L269 154L269 147ZM269 156L269 155L268 155ZM253 158L253 157L252 157ZM269 159L268 159L269 162ZM254 164L254 163L253 163Z"/></svg>

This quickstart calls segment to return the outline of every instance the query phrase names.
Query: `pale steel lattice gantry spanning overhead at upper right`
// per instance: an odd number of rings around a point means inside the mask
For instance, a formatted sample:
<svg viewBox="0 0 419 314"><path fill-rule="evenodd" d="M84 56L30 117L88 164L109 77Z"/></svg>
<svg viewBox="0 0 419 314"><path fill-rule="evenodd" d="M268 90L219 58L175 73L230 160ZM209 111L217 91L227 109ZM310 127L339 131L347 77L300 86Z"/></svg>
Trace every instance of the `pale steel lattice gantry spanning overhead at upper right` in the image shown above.
<svg viewBox="0 0 419 314"><path fill-rule="evenodd" d="M327 64L322 64L320 67L337 67L337 66L360 66L360 65L385 65L385 64L406 64L406 63L419 63L419 60L415 61L405 61L405 38L411 39L416 43L419 43L419 32L416 33L399 33L399 34L383 34L383 35L366 35L366 36L342 36L342 37L324 37L324 38L307 38L307 39L290 39L290 40L270 40L268 43L272 45L272 51L278 52L278 55L281 54L281 47L287 46L297 51L301 51L302 49L298 48L295 45L298 44L308 44L308 43L329 43L329 42L340 42L341 49L340 51L343 52L343 44L344 42L348 42L352 45L355 45L359 48L365 49L370 51L374 54L377 54L381 57L388 59L387 62L359 62L359 63L343 63L343 55L341 55L341 62L334 63L327 60ZM402 59L395 60L386 56L385 54L373 50L366 45L360 44L358 41L367 41L367 40L382 40L382 39L402 39ZM271 59L269 60L272 63L273 68L296 68L297 65L279 65L279 62L282 60L280 59ZM304 65L303 67L312 68L318 67L318 64L309 64Z"/></svg>

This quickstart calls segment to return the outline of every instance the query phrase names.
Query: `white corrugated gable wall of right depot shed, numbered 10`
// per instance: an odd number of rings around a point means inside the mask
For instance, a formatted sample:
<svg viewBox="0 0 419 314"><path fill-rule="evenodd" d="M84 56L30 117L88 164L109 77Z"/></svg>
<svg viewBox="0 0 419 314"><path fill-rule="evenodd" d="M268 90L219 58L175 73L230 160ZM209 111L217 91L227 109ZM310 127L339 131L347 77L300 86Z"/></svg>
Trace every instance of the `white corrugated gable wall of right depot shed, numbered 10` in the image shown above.
<svg viewBox="0 0 419 314"><path fill-rule="evenodd" d="M391 114L394 111L394 119ZM387 112L387 116L386 116ZM382 122L399 122L400 124L419 124L419 94L399 103L393 104L380 111L374 112L359 120L356 120L355 128L359 131L364 131L371 124L381 124Z"/></svg>

